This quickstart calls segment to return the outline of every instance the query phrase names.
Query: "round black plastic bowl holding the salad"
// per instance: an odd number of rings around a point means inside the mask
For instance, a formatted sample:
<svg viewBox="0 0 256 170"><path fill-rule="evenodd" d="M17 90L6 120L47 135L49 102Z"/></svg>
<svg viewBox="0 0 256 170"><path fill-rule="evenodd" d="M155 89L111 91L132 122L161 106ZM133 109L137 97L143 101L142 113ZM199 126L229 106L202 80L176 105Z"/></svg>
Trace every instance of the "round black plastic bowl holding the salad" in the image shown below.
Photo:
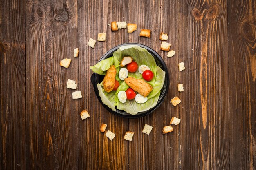
<svg viewBox="0 0 256 170"><path fill-rule="evenodd" d="M113 111L107 105L103 104L103 102L101 101L101 97L99 96L99 90L97 88L97 84L102 82L102 80L104 78L104 75L99 75L97 73L93 73L92 76L91 76L91 82L93 84L95 94L96 94L97 98L99 99L99 102L101 102L101 104L104 106L104 108L106 108L109 112L113 113L114 115L117 115L117 116L120 116L120 117L125 117L125 118L139 118L139 117L143 117L143 116L146 116L146 115L152 113L155 109L157 109L162 104L162 102L164 101L164 98L166 97L166 95L168 93L168 89L169 89L169 83L170 83L169 74L168 74L166 64L164 63L162 57L160 57L160 55L156 51L149 48L148 46L145 46L145 45L142 45L142 44L137 44L137 43L126 43L126 44L121 44L121 45L115 46L114 48L110 49L105 55L103 55L103 57L101 57L99 62L101 60L104 60L104 59L108 58L108 57L111 57L112 54L115 51L117 51L117 49L119 49L119 47L126 46L126 45L138 45L140 47L143 47L143 48L147 49L148 52L155 58L155 62L157 63L157 65L160 66L162 68L162 70L165 71L164 86L161 89L161 93L160 93L160 97L158 99L157 105L153 108L150 108L147 111L139 112L136 115L131 115L129 113L126 113L124 110L118 110L117 108L116 108L116 111Z"/></svg>

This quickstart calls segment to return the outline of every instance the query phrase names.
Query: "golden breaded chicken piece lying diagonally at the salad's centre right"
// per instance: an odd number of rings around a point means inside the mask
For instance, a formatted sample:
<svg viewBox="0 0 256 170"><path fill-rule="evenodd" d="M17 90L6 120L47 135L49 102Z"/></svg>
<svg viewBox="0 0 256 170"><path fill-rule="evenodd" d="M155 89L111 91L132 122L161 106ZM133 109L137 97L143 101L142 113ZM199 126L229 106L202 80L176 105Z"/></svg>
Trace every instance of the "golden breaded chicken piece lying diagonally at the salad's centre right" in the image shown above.
<svg viewBox="0 0 256 170"><path fill-rule="evenodd" d="M149 93L153 90L153 87L147 82L145 82L143 79L135 79L133 77L128 77L124 79L124 81L130 88L137 91L144 97L147 97Z"/></svg>

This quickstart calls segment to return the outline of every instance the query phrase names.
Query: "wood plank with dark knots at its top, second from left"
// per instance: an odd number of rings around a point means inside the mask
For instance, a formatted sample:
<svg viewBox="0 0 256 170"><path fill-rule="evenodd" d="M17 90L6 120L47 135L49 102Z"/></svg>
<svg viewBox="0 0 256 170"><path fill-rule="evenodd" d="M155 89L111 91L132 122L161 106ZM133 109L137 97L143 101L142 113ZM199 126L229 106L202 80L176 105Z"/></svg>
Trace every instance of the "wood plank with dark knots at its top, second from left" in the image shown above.
<svg viewBox="0 0 256 170"><path fill-rule="evenodd" d="M77 169L77 42L76 0L27 0L27 169Z"/></svg>

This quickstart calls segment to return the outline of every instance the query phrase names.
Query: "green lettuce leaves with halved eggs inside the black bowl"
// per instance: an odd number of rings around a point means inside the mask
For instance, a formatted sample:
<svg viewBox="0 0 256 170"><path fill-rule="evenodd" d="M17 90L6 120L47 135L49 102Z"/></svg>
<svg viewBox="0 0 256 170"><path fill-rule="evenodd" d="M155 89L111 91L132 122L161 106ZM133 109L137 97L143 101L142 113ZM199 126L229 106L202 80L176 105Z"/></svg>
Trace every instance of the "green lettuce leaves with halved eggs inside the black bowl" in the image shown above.
<svg viewBox="0 0 256 170"><path fill-rule="evenodd" d="M144 72L146 70L135 71L134 73L131 73L128 69L128 65L121 67L120 63L122 62L123 58L126 56L130 56L133 59L133 62L137 63L138 66L146 66L148 70L150 70L151 74L153 73L153 77L150 78L150 81L146 81L144 77ZM150 108L153 108L159 99L160 91L164 85L164 79L165 79L165 71L163 71L159 66L157 66L154 57L144 48L137 46L137 45L128 45L128 46L122 46L117 51L113 53L112 57L109 57L105 60L102 60L101 62L97 63L94 66L91 66L90 69L94 71L94 73L105 75L107 74L107 71L110 69L110 67L114 65L116 70L115 75L115 81L118 81L118 87L117 89L114 88L114 90L107 92L103 88L103 82L97 84L97 88L99 90L99 96L101 97L101 101L106 104L109 108L111 108L113 111L117 109L124 110L126 113L135 115L138 112L147 111ZM112 68L114 68L112 66ZM125 77L120 77L121 69L126 68L129 70L122 73L128 73L125 75ZM120 72L120 74L119 74ZM149 72L149 71L148 71ZM143 73L143 74L142 74ZM123 74L124 76L124 74ZM124 97L124 95L128 94L128 88L129 86L126 84L126 77L133 77L136 80L144 80L147 82L150 87L153 87L150 91L150 93L147 96L143 96L143 94L135 93L136 97L133 96L134 99L128 99L130 96L127 95L127 100L123 100L120 97ZM104 77L105 79L105 77ZM133 80L133 79L132 79ZM149 80L149 79L148 79ZM104 81L104 80L103 80ZM116 84L115 84L116 86ZM130 86L130 88L132 88ZM113 88L112 88L113 89ZM126 91L126 94L124 93ZM121 94L122 93L122 94ZM140 97L140 98L139 98ZM142 99L142 101L141 101ZM143 99L145 99L143 101Z"/></svg>

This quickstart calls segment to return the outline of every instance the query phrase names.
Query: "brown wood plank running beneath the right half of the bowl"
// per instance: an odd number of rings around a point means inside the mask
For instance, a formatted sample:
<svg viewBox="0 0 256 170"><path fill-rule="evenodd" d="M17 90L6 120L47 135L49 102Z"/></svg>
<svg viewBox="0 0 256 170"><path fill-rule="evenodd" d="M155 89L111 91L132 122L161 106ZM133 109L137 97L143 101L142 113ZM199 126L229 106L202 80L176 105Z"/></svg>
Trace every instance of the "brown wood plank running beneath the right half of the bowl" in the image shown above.
<svg viewBox="0 0 256 170"><path fill-rule="evenodd" d="M175 95L179 95L177 62L180 54L177 53L172 58L166 57L167 52L160 51L161 40L159 40L161 31L168 33L166 42L171 43L171 49L177 51L178 3L169 0L129 0L128 9L128 22L137 24L137 31L128 34L129 42L145 44L157 51L167 65L171 80L168 95L157 110L146 117L129 120L129 130L135 132L132 142L129 142L129 168L132 170L179 169L179 126L174 125L175 131L164 135L162 128L169 125L173 116L179 117L179 107L171 106L170 100ZM139 37L141 29L151 29L151 38ZM153 126L150 135L141 132L144 124Z"/></svg>

